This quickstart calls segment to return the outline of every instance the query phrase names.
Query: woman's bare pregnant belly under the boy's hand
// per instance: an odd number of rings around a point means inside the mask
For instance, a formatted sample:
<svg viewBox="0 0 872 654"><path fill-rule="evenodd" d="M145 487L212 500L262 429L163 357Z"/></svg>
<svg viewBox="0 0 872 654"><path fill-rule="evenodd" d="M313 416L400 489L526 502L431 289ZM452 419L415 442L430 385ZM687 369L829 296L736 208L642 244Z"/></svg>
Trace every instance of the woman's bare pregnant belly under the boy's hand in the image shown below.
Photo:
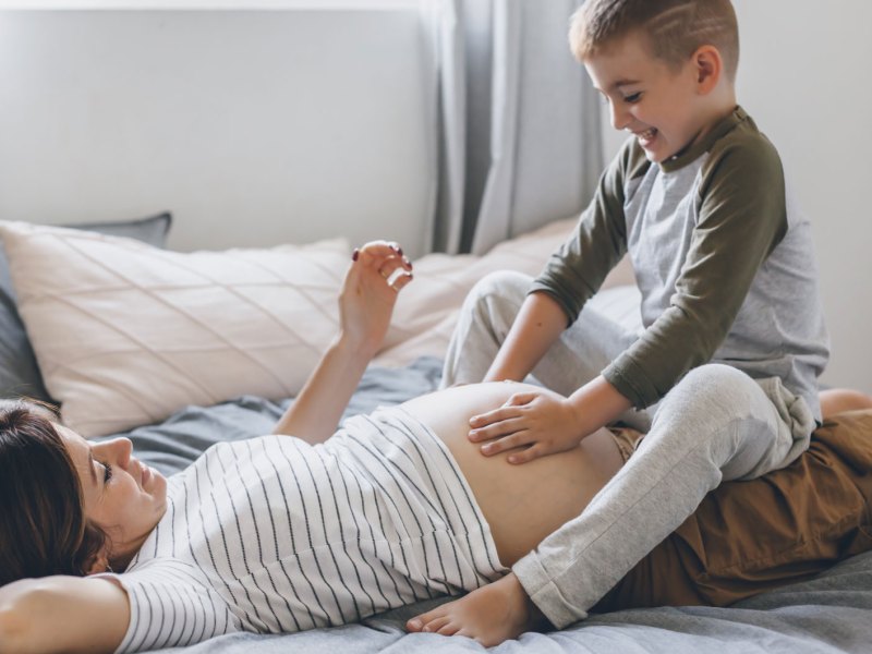
<svg viewBox="0 0 872 654"><path fill-rule="evenodd" d="M570 451L511 464L506 453L485 457L468 438L469 420L501 405L523 384L457 386L403 404L448 447L467 477L504 566L512 566L549 533L571 520L620 469L611 435L601 429ZM547 391L546 391L547 392Z"/></svg>

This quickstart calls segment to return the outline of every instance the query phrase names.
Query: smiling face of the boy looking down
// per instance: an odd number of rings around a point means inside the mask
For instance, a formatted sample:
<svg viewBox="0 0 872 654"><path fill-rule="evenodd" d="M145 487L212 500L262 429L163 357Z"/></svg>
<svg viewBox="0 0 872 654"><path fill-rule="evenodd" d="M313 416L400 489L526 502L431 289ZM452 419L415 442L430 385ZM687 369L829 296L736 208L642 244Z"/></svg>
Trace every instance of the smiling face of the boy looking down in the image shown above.
<svg viewBox="0 0 872 654"><path fill-rule="evenodd" d="M632 33L606 44L584 66L608 100L614 128L634 134L647 158L659 164L700 138L707 125L692 60L676 71L649 51L645 38Z"/></svg>

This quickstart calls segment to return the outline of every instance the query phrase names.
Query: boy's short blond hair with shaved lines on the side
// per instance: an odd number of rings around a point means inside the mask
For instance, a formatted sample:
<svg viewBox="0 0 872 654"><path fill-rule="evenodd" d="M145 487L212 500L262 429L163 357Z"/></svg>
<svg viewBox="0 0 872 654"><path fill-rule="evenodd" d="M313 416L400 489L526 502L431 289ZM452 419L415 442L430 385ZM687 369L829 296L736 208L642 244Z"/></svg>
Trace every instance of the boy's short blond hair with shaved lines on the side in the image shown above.
<svg viewBox="0 0 872 654"><path fill-rule="evenodd" d="M639 29L653 55L673 69L700 46L720 52L727 77L739 65L739 26L730 0L588 0L572 16L569 44L584 61L608 41Z"/></svg>

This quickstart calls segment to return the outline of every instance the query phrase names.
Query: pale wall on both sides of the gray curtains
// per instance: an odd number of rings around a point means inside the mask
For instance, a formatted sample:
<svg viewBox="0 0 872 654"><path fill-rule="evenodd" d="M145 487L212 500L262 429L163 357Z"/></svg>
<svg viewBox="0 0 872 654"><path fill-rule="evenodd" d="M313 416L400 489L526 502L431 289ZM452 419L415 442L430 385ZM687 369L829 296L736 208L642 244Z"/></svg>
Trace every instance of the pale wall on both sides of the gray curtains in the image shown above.
<svg viewBox="0 0 872 654"><path fill-rule="evenodd" d="M735 4L740 102L814 226L824 380L872 392L872 2ZM434 170L419 29L412 8L0 12L0 218L171 209L180 250L344 234L416 254Z"/></svg>

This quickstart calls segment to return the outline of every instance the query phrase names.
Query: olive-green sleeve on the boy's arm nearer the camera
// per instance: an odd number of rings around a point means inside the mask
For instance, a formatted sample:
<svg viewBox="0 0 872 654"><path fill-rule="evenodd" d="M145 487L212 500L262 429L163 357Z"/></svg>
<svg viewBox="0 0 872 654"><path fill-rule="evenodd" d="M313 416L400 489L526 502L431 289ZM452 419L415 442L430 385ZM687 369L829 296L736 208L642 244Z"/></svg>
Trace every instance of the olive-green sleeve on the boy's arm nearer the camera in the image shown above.
<svg viewBox="0 0 872 654"><path fill-rule="evenodd" d="M603 372L639 408L712 359L787 231L784 171L765 138L713 152L701 174L699 223L670 306Z"/></svg>

